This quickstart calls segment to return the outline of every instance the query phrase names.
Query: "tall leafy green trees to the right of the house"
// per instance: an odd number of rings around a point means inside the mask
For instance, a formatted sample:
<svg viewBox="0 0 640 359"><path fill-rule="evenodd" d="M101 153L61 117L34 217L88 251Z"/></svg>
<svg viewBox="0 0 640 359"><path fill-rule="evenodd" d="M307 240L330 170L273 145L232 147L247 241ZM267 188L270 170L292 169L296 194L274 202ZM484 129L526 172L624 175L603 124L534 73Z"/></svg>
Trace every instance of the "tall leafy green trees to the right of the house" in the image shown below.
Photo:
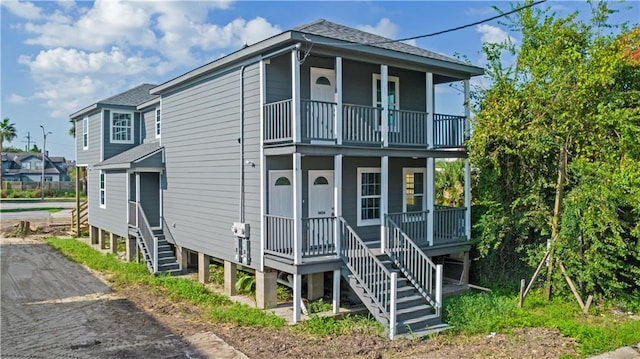
<svg viewBox="0 0 640 359"><path fill-rule="evenodd" d="M640 295L640 30L614 33L610 14L605 2L588 22L530 8L510 18L518 48L484 45L493 85L470 143L484 275L519 279L553 237L584 290Z"/></svg>

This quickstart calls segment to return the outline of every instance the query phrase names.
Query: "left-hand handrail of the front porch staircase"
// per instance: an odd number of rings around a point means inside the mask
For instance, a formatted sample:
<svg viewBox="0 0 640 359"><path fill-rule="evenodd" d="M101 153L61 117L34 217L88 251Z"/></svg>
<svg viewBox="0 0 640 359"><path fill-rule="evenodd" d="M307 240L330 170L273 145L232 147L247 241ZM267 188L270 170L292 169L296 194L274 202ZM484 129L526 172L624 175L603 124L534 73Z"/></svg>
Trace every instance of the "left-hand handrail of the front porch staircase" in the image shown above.
<svg viewBox="0 0 640 359"><path fill-rule="evenodd" d="M389 321L389 336L393 339L396 328L398 273L388 270L384 264L382 264L344 218L338 217L338 220L341 224L340 257L358 284L360 284L382 315ZM348 234L348 236L346 234ZM357 248L353 248L353 246ZM359 256L353 256L353 252L357 252ZM364 258L362 256L364 256ZM367 274L378 278L367 281L363 277L362 271L358 270L358 267L366 267Z"/></svg>

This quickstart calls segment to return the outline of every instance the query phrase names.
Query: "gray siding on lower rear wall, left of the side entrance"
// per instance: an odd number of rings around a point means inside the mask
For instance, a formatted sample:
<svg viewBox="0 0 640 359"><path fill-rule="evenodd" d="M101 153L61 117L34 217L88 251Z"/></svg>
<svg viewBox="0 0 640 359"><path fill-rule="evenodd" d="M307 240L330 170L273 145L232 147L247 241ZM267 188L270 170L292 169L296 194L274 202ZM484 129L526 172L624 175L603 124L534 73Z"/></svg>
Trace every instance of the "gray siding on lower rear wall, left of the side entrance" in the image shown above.
<svg viewBox="0 0 640 359"><path fill-rule="evenodd" d="M105 171L106 208L100 208L100 171L89 168L87 173L89 224L121 237L128 235L127 173Z"/></svg>

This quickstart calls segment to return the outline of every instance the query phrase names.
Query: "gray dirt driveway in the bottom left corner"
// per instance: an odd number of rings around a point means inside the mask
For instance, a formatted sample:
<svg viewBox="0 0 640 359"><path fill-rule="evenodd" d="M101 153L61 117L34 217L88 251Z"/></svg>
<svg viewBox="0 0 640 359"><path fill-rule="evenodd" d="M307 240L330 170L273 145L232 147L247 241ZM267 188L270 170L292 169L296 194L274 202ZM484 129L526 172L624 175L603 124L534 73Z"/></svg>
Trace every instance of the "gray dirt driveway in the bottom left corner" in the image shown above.
<svg viewBox="0 0 640 359"><path fill-rule="evenodd" d="M246 358L181 338L41 240L0 238L2 358Z"/></svg>

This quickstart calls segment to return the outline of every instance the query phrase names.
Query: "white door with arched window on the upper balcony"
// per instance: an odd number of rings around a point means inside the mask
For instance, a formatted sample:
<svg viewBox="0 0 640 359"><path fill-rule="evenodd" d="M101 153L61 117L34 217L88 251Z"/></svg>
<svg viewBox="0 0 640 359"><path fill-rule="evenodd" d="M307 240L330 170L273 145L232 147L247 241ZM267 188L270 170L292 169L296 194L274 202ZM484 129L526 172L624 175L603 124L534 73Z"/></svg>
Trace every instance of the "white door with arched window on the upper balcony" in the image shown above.
<svg viewBox="0 0 640 359"><path fill-rule="evenodd" d="M303 108L307 132L311 139L333 140L336 72L333 69L312 67L310 73L312 102Z"/></svg>

